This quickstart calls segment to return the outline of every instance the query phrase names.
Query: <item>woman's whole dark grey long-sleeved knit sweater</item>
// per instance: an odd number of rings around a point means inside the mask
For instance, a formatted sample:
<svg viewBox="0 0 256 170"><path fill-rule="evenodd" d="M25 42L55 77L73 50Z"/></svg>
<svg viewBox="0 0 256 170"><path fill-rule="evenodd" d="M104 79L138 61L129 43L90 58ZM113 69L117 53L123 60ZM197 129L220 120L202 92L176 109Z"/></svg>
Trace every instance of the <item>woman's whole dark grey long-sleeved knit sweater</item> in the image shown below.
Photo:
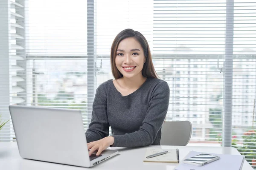
<svg viewBox="0 0 256 170"><path fill-rule="evenodd" d="M112 147L160 145L161 126L169 106L170 89L161 79L147 78L143 85L122 96L110 79L96 90L92 121L86 131L87 142L109 135Z"/></svg>

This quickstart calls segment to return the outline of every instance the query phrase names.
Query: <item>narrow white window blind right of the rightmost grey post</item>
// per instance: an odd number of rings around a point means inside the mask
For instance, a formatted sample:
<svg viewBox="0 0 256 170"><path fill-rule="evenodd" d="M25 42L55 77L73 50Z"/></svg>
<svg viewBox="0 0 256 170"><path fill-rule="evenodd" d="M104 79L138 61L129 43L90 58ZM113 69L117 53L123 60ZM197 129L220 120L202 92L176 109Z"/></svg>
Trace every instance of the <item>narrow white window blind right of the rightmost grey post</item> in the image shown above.
<svg viewBox="0 0 256 170"><path fill-rule="evenodd" d="M234 1L232 146L256 169L256 2Z"/></svg>

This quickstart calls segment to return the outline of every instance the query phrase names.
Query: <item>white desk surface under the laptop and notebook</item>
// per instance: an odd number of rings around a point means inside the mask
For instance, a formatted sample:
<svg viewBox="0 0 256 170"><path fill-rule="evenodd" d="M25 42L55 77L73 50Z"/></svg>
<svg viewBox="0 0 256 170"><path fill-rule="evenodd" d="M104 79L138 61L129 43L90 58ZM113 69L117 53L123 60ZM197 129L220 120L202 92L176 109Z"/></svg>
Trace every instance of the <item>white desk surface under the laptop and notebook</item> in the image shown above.
<svg viewBox="0 0 256 170"><path fill-rule="evenodd" d="M208 153L222 153L239 155L240 153L233 147L192 147L192 146L150 146L162 148L178 148L180 160L182 160L191 150ZM93 170L173 170L175 163L155 163L143 162L146 147L135 149L118 149L119 154L107 161L104 161L90 169ZM19 155L15 142L0 142L0 170L86 170L83 167L54 164L42 161L32 161L22 159ZM253 170L244 160L242 170Z"/></svg>

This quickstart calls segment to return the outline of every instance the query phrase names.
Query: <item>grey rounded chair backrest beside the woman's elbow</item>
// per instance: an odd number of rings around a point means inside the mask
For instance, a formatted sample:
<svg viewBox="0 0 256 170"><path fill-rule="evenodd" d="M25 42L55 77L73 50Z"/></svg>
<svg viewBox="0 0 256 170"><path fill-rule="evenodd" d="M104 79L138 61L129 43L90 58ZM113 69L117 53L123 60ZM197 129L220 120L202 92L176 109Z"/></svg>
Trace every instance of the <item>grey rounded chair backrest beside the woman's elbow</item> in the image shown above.
<svg viewBox="0 0 256 170"><path fill-rule="evenodd" d="M163 122L160 145L186 146L192 134L189 121Z"/></svg>

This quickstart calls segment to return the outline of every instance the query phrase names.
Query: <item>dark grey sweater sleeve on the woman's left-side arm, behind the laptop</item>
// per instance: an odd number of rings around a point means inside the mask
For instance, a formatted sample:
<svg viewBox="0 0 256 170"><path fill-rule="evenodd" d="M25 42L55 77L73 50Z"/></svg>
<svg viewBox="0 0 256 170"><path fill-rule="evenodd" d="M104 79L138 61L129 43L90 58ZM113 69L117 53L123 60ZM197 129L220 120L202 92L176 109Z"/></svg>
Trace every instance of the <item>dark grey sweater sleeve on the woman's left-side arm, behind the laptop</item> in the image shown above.
<svg viewBox="0 0 256 170"><path fill-rule="evenodd" d="M102 90L102 85L96 90L93 101L92 119L85 132L87 143L100 140L109 135L109 123L107 116L107 99ZM103 97L105 96L105 97Z"/></svg>

